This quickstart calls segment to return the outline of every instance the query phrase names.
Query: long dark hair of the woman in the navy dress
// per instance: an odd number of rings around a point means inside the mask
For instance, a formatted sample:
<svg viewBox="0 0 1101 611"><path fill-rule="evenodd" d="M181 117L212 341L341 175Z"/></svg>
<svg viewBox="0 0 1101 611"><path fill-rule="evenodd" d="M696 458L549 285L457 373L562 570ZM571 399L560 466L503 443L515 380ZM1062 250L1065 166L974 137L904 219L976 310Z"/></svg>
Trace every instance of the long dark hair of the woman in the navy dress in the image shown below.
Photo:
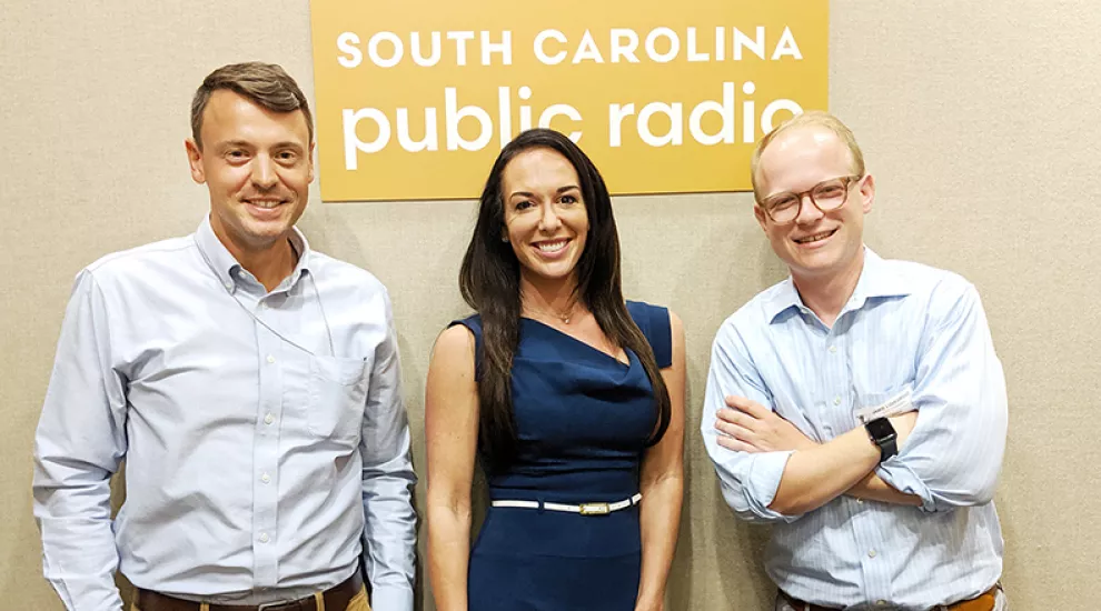
<svg viewBox="0 0 1101 611"><path fill-rule="evenodd" d="M669 424L669 394L654 351L632 320L623 300L619 274L619 236L612 216L612 198L596 166L565 136L533 129L509 142L494 162L482 191L474 236L463 257L459 290L482 314L482 352L478 378L478 449L490 471L507 467L516 457L516 418L513 412L513 357L519 343L519 261L505 234L502 178L505 167L532 149L549 149L565 157L581 181L588 213L588 237L577 261L575 297L596 318L601 330L617 347L634 352L654 389L657 422L647 445L657 443Z"/></svg>

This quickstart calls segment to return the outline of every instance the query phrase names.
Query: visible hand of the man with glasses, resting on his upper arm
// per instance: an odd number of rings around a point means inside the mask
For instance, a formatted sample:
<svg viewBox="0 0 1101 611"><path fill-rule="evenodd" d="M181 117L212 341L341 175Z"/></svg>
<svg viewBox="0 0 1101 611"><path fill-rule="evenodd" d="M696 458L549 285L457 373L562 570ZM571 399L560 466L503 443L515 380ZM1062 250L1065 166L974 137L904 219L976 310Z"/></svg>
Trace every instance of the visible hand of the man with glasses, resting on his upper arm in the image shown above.
<svg viewBox="0 0 1101 611"><path fill-rule="evenodd" d="M718 410L715 429L718 444L736 452L806 450L817 445L794 424L761 403L744 397L727 397ZM909 432L909 431L907 431Z"/></svg>

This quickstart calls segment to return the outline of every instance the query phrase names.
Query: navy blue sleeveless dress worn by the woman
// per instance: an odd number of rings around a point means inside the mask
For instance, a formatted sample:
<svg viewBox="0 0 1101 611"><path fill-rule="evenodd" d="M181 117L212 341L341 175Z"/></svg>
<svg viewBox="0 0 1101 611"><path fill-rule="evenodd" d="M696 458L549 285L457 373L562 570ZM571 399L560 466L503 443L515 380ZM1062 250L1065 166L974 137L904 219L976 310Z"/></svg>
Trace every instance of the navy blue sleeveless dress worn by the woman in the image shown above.
<svg viewBox="0 0 1101 611"><path fill-rule="evenodd" d="M665 308L627 302L658 368L673 360ZM457 321L482 353L482 319ZM657 422L638 357L629 364L532 319L520 319L513 361L519 440L507 471L487 473L493 500L581 504L638 492L646 439ZM480 370L480 367L476 369ZM646 502L646 499L641 501ZM632 611L642 543L638 505L606 515L489 508L470 552L470 611Z"/></svg>

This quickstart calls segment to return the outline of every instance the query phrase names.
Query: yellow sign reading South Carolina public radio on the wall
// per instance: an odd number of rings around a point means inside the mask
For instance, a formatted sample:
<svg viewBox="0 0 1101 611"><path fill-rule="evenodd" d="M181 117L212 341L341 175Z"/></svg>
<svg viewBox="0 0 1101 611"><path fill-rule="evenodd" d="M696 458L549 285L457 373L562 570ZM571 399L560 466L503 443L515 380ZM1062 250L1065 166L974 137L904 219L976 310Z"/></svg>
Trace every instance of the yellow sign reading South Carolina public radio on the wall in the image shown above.
<svg viewBox="0 0 1101 611"><path fill-rule="evenodd" d="M827 101L827 0L313 0L321 198L476 198L513 137L613 193L750 189L753 143Z"/></svg>

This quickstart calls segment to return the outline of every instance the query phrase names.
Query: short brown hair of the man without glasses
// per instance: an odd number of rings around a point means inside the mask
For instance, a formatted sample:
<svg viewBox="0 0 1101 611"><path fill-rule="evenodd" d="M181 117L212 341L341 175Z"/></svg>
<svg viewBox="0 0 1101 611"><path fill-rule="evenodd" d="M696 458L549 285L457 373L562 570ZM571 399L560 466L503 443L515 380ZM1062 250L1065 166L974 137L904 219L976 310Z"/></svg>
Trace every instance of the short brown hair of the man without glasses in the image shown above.
<svg viewBox="0 0 1101 611"><path fill-rule="evenodd" d="M191 99L191 138L195 144L202 148L199 132L202 129L202 111L210 101L210 96L219 90L228 89L244 96L261 107L275 112L302 111L306 117L306 128L309 130L309 141L314 142L314 116L309 111L306 94L280 66L248 61L222 66L202 79L202 84L195 91Z"/></svg>

